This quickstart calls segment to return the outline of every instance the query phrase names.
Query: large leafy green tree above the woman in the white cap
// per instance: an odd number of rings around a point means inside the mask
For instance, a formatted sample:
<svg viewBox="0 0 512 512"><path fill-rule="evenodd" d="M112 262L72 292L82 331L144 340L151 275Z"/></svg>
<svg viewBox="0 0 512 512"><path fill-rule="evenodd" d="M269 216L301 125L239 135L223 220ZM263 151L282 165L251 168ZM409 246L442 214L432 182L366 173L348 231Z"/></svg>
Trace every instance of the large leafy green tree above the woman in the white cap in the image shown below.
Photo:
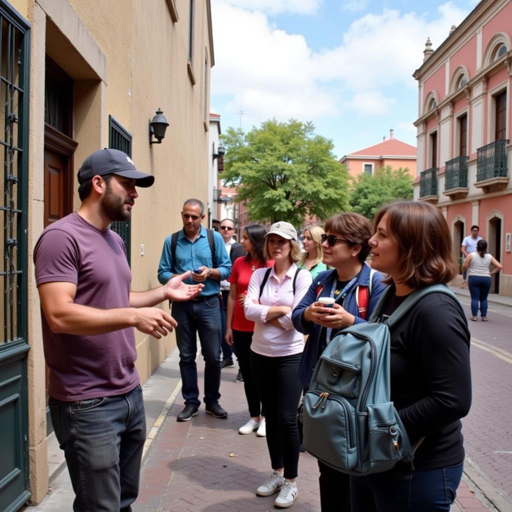
<svg viewBox="0 0 512 512"><path fill-rule="evenodd" d="M312 123L272 119L247 134L230 127L222 141L222 179L237 188L252 221L298 226L307 215L325 219L348 208L347 170Z"/></svg>

